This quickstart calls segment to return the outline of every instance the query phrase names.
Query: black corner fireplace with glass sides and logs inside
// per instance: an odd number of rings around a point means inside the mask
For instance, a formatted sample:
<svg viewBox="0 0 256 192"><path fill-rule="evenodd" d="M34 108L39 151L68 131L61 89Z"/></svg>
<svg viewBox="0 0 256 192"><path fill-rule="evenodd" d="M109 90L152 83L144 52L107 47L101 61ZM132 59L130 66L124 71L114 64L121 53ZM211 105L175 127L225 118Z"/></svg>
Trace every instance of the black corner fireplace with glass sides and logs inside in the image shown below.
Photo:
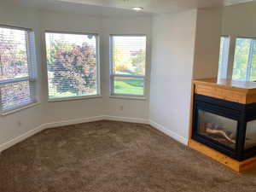
<svg viewBox="0 0 256 192"><path fill-rule="evenodd" d="M235 160L256 155L256 103L195 94L192 138Z"/></svg>

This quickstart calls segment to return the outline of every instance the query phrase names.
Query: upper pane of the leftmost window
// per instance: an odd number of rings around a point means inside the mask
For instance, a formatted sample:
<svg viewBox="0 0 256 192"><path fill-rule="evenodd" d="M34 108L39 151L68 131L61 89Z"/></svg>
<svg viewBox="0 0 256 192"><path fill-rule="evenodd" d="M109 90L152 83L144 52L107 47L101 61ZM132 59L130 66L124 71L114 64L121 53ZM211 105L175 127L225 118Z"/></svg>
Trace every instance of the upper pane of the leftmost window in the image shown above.
<svg viewBox="0 0 256 192"><path fill-rule="evenodd" d="M0 27L0 80L28 76L26 31Z"/></svg>

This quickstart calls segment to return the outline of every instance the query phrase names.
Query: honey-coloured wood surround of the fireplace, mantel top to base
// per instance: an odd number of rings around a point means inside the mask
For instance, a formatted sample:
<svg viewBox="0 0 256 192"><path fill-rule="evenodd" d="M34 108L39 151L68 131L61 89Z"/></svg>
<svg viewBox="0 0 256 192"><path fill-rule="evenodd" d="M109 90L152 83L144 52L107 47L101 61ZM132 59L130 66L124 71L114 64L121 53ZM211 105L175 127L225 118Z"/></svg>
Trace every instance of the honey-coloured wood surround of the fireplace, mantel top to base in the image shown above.
<svg viewBox="0 0 256 192"><path fill-rule="evenodd" d="M212 96L230 102L250 104L256 102L256 82L239 82L229 79L196 79L192 81L189 148L206 154L236 172L244 172L256 166L256 156L238 161L192 139L194 95Z"/></svg>

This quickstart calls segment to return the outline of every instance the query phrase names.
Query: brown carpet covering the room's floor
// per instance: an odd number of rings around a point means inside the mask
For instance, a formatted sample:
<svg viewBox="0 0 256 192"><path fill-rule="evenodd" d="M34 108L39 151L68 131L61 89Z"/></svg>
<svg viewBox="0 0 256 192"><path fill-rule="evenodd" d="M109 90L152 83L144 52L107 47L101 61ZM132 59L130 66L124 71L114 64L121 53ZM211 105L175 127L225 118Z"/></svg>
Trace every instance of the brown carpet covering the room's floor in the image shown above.
<svg viewBox="0 0 256 192"><path fill-rule="evenodd" d="M0 156L1 192L255 192L238 174L149 125L97 121L48 129Z"/></svg>

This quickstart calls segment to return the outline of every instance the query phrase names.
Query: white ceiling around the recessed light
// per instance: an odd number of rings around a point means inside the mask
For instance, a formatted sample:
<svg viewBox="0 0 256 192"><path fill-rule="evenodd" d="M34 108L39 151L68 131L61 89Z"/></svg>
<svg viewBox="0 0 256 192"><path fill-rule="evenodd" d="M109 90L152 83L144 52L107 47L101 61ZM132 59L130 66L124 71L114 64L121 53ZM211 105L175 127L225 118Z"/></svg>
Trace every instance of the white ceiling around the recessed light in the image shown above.
<svg viewBox="0 0 256 192"><path fill-rule="evenodd" d="M87 15L154 15L252 0L9 0L17 5ZM143 7L142 12L131 10Z"/></svg>

